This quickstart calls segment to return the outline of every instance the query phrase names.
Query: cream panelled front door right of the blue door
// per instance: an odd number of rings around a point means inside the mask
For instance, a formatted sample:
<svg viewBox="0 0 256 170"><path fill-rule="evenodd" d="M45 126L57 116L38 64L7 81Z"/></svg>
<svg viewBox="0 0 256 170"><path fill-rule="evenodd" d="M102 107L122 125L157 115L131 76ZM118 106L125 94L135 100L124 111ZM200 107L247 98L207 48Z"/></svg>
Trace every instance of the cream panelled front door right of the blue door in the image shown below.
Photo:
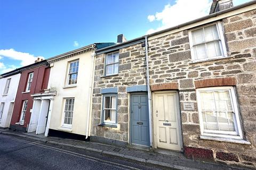
<svg viewBox="0 0 256 170"><path fill-rule="evenodd" d="M181 151L178 92L155 92L153 97L155 147Z"/></svg>

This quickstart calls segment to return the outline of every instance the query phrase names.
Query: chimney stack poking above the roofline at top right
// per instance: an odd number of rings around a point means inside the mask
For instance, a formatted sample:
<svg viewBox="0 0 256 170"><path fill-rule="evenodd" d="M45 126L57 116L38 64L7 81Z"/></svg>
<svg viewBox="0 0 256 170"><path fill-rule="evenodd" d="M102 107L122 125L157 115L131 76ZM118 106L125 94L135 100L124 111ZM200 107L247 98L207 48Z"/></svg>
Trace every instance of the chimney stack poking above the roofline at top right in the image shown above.
<svg viewBox="0 0 256 170"><path fill-rule="evenodd" d="M227 8L233 7L232 0L213 0L209 14L226 10Z"/></svg>

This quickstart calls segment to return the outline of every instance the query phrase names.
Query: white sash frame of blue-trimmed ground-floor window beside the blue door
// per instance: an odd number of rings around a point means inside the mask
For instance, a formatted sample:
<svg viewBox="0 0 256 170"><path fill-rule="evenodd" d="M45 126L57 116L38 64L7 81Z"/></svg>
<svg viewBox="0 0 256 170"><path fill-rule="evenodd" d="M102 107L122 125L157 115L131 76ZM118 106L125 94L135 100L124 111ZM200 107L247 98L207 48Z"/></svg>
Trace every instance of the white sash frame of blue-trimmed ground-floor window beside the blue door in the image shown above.
<svg viewBox="0 0 256 170"><path fill-rule="evenodd" d="M110 100L111 100L112 97L116 97L116 106L115 106L115 108L108 108L108 109L105 108L105 104L106 104L105 98L106 97L110 97ZM117 94L104 94L104 95L102 95L102 110L101 110L101 116L102 116L101 123L102 124L110 124L110 125L116 125L117 124L117 104L118 104ZM116 111L115 121L106 121L105 120L105 110L114 110L114 111ZM110 117L111 117L111 115L110 115Z"/></svg>

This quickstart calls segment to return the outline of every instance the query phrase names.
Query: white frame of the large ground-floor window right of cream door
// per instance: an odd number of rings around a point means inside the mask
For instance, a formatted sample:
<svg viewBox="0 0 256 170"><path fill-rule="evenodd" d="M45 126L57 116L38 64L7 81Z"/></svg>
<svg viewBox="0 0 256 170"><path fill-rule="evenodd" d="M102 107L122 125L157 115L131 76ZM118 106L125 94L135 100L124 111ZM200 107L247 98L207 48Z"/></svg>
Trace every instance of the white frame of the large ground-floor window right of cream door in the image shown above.
<svg viewBox="0 0 256 170"><path fill-rule="evenodd" d="M233 107L233 111L235 112L234 124L235 124L236 133L232 133L232 132L230 133L226 131L217 131L217 130L204 130L200 92L214 91L214 90L230 90L231 104ZM238 140L243 139L243 132L241 127L241 121L239 118L239 111L238 111L238 105L237 105L236 93L235 93L234 87L225 86L225 87L199 88L199 89L196 89L196 96L197 96L201 135L210 136L210 137L231 138L231 139L238 139Z"/></svg>

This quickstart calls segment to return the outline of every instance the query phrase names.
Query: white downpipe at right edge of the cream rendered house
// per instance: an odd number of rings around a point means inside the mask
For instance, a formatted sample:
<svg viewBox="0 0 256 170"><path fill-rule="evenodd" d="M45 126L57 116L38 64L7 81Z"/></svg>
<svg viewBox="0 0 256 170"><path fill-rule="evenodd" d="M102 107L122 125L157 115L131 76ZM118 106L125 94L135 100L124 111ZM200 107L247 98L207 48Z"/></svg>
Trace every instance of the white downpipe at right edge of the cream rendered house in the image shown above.
<svg viewBox="0 0 256 170"><path fill-rule="evenodd" d="M88 138L88 135L89 135L89 129L90 129L90 115L91 115L91 103L92 103L92 91L93 91L93 75L94 75L94 66L95 66L95 49L94 49L94 52L92 54L92 71L91 71L91 74L90 74L90 92L88 94L88 98L89 98L89 103L88 103L88 109L87 109L87 124L86 124L86 137L85 139Z"/></svg>

